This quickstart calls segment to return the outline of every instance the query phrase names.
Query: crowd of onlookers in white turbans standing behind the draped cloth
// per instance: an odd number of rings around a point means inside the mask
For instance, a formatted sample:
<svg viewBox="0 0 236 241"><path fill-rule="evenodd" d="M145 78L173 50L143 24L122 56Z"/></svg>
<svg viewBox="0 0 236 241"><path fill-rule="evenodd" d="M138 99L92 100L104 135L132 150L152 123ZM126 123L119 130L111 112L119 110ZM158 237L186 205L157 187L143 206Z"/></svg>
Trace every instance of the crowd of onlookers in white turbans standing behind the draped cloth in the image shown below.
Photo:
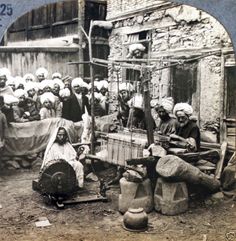
<svg viewBox="0 0 236 241"><path fill-rule="evenodd" d="M95 76L95 116L108 113L108 82ZM91 84L82 78L64 79L60 73L48 76L45 68L35 75L12 77L6 68L0 69L0 96L3 96L2 112L8 123L28 122L62 117L73 122L81 121L87 109L91 109Z"/></svg>

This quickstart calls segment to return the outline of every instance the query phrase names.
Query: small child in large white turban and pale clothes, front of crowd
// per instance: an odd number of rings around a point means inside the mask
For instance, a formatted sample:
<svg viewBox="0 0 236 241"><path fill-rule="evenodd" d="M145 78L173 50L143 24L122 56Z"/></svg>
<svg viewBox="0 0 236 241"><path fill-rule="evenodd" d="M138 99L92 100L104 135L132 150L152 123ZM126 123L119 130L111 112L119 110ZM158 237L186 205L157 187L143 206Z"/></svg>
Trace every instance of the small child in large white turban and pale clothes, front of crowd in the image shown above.
<svg viewBox="0 0 236 241"><path fill-rule="evenodd" d="M43 106L39 111L40 119L55 118L56 111L53 108L55 96L52 93L47 92L40 96L40 101Z"/></svg>

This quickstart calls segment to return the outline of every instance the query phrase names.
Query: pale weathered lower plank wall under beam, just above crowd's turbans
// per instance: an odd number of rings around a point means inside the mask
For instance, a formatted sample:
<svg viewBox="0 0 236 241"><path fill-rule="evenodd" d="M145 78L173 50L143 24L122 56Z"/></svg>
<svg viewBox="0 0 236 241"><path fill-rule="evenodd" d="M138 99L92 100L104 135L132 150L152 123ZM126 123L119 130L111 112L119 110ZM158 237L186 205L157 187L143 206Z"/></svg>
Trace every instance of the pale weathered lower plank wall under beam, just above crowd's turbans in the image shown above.
<svg viewBox="0 0 236 241"><path fill-rule="evenodd" d="M49 71L48 78L54 72L63 76L78 76L78 66L68 65L67 62L78 61L78 50L71 48L44 49L38 51L34 48L5 48L0 49L0 66L11 70L13 76L23 76L33 73L38 67L45 67Z"/></svg>

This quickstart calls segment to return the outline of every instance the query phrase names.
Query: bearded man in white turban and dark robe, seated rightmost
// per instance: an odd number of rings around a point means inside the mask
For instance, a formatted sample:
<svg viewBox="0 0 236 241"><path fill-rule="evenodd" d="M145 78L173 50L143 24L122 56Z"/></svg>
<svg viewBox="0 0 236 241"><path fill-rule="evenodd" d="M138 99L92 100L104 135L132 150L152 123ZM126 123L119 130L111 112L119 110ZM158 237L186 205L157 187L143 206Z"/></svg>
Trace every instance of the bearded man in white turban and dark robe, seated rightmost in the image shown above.
<svg viewBox="0 0 236 241"><path fill-rule="evenodd" d="M187 103L178 103L174 107L174 114L177 117L178 126L176 135L171 138L182 141L190 152L200 149L200 130L197 124L190 119L193 108Z"/></svg>

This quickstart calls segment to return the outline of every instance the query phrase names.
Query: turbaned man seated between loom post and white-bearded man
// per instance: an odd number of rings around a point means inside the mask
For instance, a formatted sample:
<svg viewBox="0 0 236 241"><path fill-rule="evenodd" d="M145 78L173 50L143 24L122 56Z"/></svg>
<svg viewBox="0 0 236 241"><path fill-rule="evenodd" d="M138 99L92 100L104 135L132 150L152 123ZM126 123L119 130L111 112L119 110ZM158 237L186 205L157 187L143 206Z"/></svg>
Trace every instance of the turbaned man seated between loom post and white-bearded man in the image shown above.
<svg viewBox="0 0 236 241"><path fill-rule="evenodd" d="M173 110L173 99L162 99L155 110L158 113L159 120L157 121L157 132L162 135L170 135L176 132L176 120L170 116Z"/></svg>

